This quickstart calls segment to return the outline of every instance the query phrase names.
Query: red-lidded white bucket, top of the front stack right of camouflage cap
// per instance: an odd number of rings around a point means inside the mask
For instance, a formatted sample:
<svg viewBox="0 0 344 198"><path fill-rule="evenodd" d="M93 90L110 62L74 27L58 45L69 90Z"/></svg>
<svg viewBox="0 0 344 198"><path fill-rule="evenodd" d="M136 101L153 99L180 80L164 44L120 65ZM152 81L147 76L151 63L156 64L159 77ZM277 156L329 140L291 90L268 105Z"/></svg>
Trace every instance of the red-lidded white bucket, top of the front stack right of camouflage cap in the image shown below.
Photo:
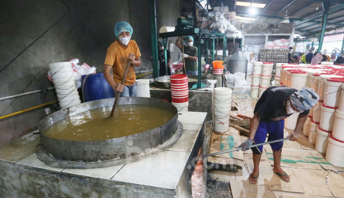
<svg viewBox="0 0 344 198"><path fill-rule="evenodd" d="M339 107L344 78L327 78L325 83L324 104Z"/></svg>

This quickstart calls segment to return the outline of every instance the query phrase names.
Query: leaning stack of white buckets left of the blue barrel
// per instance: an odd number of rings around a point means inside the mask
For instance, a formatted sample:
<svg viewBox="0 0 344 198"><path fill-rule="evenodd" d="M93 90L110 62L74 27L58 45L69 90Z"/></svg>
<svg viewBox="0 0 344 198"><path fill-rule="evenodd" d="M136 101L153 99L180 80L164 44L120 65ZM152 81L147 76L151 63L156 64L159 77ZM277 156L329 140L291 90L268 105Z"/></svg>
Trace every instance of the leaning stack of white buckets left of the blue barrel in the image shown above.
<svg viewBox="0 0 344 198"><path fill-rule="evenodd" d="M49 69L61 108L80 104L72 64L70 62L50 63Z"/></svg>

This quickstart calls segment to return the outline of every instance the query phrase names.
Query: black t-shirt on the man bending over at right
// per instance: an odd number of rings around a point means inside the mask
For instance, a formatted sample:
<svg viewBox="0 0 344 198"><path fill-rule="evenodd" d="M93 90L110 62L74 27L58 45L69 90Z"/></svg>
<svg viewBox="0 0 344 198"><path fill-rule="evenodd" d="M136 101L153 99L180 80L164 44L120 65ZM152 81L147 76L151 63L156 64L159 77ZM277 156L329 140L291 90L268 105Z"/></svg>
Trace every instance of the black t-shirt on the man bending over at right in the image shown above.
<svg viewBox="0 0 344 198"><path fill-rule="evenodd" d="M258 112L263 122L277 122L288 118L291 114L287 114L284 101L295 91L298 90L286 86L268 88L257 101L254 113ZM309 110L303 111L302 114L308 115Z"/></svg>

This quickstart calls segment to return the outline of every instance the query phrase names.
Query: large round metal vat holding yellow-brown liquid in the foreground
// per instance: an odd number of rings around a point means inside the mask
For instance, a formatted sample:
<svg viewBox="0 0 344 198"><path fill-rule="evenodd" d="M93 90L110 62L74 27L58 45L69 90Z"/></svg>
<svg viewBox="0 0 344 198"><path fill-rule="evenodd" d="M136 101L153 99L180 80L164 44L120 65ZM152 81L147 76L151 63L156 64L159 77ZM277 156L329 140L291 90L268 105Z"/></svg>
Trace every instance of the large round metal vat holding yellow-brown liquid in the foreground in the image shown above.
<svg viewBox="0 0 344 198"><path fill-rule="evenodd" d="M100 162L109 159L124 159L163 144L175 134L178 128L178 111L171 103L154 98L126 97L120 98L118 104L144 104L160 107L173 112L174 117L158 128L108 140L69 141L44 135L44 131L57 121L91 109L105 107L111 110L113 104L114 98L95 100L62 109L45 117L38 126L44 151L64 161Z"/></svg>

